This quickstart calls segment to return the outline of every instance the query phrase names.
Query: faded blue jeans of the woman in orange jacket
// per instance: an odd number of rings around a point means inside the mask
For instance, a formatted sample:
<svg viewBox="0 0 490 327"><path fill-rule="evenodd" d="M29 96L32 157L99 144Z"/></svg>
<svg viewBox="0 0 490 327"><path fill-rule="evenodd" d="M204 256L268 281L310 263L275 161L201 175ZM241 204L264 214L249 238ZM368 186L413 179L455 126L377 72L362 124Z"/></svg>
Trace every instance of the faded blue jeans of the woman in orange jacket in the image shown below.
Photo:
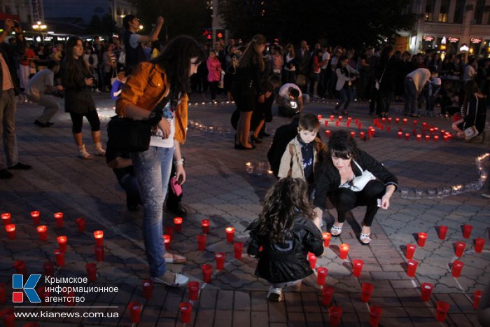
<svg viewBox="0 0 490 327"><path fill-rule="evenodd" d="M162 208L172 169L175 148L150 146L147 151L133 153L134 173L143 201L143 239L146 259L152 277L165 274Z"/></svg>

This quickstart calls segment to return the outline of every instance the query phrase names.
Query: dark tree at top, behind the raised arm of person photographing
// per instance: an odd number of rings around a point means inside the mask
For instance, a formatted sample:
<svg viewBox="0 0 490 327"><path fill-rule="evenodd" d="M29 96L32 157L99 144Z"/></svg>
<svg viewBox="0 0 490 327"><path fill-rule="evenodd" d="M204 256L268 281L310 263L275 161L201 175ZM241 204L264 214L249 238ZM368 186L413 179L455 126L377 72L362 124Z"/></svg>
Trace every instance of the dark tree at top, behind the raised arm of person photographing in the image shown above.
<svg viewBox="0 0 490 327"><path fill-rule="evenodd" d="M202 29L211 27L211 11L202 0L145 0L136 3L143 33L150 33L158 16L165 18L158 39L187 34L199 37Z"/></svg>

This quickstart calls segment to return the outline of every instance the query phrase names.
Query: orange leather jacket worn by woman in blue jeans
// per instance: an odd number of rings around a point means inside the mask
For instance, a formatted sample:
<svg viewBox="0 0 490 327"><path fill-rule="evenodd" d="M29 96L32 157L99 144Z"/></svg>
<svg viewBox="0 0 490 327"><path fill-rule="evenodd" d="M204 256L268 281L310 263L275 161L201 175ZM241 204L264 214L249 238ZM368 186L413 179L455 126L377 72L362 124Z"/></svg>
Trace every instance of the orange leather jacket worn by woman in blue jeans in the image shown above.
<svg viewBox="0 0 490 327"><path fill-rule="evenodd" d="M116 113L125 117L126 108L130 104L151 111L167 95L168 89L165 70L158 64L141 62L123 86L123 92L116 102ZM175 139L181 144L187 136L188 100L188 95L183 95L175 115Z"/></svg>

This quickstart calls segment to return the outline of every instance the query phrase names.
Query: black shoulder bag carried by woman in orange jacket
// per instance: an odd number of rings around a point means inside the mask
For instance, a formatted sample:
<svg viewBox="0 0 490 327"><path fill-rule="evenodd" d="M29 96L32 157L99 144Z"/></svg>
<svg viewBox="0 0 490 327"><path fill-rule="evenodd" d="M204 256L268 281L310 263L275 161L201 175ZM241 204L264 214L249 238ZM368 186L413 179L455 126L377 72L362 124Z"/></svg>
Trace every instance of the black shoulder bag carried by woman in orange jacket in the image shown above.
<svg viewBox="0 0 490 327"><path fill-rule="evenodd" d="M169 95L158 102L155 109L163 109L169 102ZM148 120L113 116L107 124L107 148L115 152L146 151L150 147L151 128Z"/></svg>

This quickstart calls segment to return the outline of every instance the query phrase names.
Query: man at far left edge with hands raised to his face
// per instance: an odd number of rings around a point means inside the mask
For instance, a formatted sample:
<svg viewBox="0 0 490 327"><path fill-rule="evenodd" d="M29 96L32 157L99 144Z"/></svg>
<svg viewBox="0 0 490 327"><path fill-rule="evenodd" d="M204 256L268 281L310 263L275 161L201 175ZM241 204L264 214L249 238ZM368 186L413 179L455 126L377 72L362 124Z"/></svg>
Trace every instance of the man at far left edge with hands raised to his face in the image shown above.
<svg viewBox="0 0 490 327"><path fill-rule="evenodd" d="M17 42L15 46L5 43L10 31L15 31ZM10 179L13 176L8 169L30 169L31 166L19 162L17 137L15 135L15 95L20 94L19 78L13 64L13 56L25 53L25 41L22 36L20 23L13 20L5 20L3 32L0 34L0 134L3 136L3 151L5 151L7 164L0 158L0 179ZM3 129L6 130L3 130ZM7 169L8 167L8 169Z"/></svg>

